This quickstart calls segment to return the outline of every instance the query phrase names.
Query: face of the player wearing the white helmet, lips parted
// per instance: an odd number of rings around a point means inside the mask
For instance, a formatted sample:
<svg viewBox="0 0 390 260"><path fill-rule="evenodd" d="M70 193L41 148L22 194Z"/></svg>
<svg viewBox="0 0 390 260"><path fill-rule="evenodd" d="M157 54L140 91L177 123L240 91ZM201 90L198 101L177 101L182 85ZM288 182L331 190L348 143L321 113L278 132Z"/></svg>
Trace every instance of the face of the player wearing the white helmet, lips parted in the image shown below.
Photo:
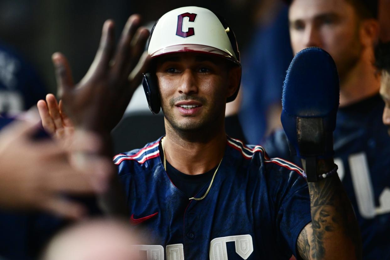
<svg viewBox="0 0 390 260"><path fill-rule="evenodd" d="M229 69L211 55L177 53L158 58L156 75L161 108L168 123L196 131L221 122L225 114Z"/></svg>

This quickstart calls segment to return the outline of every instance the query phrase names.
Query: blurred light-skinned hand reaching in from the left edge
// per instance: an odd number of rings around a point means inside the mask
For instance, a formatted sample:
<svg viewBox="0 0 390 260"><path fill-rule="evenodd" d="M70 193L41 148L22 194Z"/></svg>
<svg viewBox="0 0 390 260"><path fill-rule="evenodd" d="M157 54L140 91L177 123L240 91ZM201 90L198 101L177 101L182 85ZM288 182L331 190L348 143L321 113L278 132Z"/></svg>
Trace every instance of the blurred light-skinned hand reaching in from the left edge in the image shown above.
<svg viewBox="0 0 390 260"><path fill-rule="evenodd" d="M0 132L0 207L40 209L79 218L82 205L64 194L101 194L114 168L96 156L101 142L91 133L74 133L68 149L51 139L36 140L37 123L15 121Z"/></svg>

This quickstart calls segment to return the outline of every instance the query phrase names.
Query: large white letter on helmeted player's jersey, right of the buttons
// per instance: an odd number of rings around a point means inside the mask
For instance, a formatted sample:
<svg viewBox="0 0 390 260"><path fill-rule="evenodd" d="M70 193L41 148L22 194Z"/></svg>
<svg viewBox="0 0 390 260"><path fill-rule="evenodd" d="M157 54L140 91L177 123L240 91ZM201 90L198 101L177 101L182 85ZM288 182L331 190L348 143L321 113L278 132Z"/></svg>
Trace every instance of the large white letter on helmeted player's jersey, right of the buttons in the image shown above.
<svg viewBox="0 0 390 260"><path fill-rule="evenodd" d="M210 243L210 260L228 260L226 243L234 242L236 253L243 259L247 259L253 252L251 235L232 235L229 237L218 237Z"/></svg>

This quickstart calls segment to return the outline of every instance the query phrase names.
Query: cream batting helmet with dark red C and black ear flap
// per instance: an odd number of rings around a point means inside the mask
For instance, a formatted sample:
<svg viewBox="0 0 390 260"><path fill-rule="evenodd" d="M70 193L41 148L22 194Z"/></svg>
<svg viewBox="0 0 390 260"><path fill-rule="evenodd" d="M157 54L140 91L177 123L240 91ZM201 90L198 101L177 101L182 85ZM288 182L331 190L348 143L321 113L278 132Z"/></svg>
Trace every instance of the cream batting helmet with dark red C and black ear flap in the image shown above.
<svg viewBox="0 0 390 260"><path fill-rule="evenodd" d="M236 36L225 19L202 7L180 7L167 12L154 24L148 42L152 58L177 52L216 55L241 68ZM153 73L145 73L142 85L153 113L160 111L158 87ZM233 101L238 94L227 98Z"/></svg>

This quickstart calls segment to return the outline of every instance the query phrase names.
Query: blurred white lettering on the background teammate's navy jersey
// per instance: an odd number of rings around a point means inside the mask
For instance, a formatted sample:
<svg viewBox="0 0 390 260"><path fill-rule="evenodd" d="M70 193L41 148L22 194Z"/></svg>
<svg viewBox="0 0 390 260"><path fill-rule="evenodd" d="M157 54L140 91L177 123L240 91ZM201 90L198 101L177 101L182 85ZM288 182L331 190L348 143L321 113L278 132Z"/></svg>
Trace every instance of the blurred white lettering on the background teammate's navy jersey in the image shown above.
<svg viewBox="0 0 390 260"><path fill-rule="evenodd" d="M351 154L348 157L348 163L360 215L363 218L371 219L376 215L390 212L389 187L386 187L379 195L379 207L375 207L374 189L365 153ZM335 159L335 164L339 167L337 172L340 180L342 180L344 177L344 164L340 158Z"/></svg>

